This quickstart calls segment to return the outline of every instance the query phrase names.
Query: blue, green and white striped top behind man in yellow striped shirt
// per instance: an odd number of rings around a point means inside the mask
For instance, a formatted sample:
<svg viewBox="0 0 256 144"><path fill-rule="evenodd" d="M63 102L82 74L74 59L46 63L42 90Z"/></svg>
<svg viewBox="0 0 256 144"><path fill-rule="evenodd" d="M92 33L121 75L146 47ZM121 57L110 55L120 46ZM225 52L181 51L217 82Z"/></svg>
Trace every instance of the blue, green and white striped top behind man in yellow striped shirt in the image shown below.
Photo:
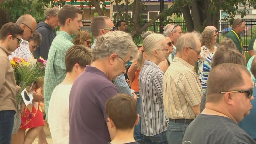
<svg viewBox="0 0 256 144"><path fill-rule="evenodd" d="M211 63L212 63L213 55L214 55L214 53L210 53L210 55L206 58L206 60L203 63L203 72L202 72L202 79L201 79L201 86L202 86L203 93L207 89L207 80L208 80L208 75L211 70Z"/></svg>

